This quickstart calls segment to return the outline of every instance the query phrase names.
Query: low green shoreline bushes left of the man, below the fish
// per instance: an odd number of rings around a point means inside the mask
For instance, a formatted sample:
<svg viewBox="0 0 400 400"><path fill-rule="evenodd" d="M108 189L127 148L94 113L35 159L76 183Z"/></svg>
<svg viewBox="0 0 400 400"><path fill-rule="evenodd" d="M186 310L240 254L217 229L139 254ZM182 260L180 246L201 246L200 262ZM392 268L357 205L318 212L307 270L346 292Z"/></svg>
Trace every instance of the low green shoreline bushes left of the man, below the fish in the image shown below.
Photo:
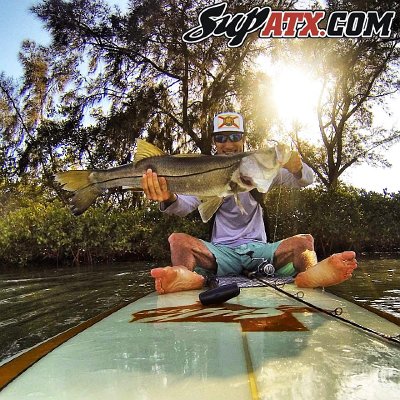
<svg viewBox="0 0 400 400"><path fill-rule="evenodd" d="M177 219L154 205L133 209L90 208L79 217L60 201L26 200L0 220L0 261L93 263L121 258L169 258L168 236L187 232L206 237L196 216Z"/></svg>

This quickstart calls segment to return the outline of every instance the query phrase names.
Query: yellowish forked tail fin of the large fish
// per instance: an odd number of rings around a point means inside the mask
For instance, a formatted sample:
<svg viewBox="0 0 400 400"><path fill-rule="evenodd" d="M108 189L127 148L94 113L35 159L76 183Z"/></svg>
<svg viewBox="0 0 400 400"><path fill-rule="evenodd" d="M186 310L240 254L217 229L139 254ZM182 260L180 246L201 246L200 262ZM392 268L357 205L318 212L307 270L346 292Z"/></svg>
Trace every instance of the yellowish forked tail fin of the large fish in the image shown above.
<svg viewBox="0 0 400 400"><path fill-rule="evenodd" d="M55 175L63 189L75 192L71 199L71 211L74 215L84 213L101 194L102 190L93 179L93 171L65 171Z"/></svg>

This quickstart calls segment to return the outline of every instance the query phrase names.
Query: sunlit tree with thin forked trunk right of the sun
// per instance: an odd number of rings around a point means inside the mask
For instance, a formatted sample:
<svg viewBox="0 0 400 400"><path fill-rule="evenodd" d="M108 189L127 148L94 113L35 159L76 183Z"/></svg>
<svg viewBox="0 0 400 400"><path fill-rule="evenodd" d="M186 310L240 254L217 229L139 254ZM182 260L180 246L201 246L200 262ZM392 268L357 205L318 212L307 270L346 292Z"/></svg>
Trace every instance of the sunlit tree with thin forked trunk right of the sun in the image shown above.
<svg viewBox="0 0 400 400"><path fill-rule="evenodd" d="M396 1L329 1L334 10L399 10ZM400 138L400 130L374 127L373 107L384 107L386 96L399 89L399 21L390 39L343 38L293 41L290 57L314 69L322 81L318 102L320 145L310 145L295 134L293 140L303 159L327 188L364 161L388 165L378 152Z"/></svg>

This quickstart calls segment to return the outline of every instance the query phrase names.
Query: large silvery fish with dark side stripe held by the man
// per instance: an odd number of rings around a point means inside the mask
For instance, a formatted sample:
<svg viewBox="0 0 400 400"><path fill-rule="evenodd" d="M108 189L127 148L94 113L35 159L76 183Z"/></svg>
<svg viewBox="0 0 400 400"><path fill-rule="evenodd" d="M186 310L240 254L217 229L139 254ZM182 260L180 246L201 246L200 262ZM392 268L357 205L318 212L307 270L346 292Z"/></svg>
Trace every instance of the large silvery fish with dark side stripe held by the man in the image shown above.
<svg viewBox="0 0 400 400"><path fill-rule="evenodd" d="M225 196L256 188L266 193L279 168L290 158L286 145L232 155L166 155L158 147L138 139L135 162L106 170L71 170L59 172L55 179L63 189L75 192L71 210L82 214L106 189L128 186L143 190L141 179L147 169L165 177L168 190L201 199L199 212L207 222L217 211Z"/></svg>

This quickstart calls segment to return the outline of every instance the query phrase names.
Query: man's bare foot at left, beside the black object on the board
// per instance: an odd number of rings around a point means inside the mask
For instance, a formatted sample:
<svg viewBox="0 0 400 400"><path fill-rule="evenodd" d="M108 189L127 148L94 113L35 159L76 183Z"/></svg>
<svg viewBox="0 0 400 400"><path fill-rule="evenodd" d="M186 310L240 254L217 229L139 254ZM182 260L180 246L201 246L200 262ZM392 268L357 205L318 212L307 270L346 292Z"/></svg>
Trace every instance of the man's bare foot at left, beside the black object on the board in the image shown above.
<svg viewBox="0 0 400 400"><path fill-rule="evenodd" d="M153 268L150 273L159 294L201 289L204 285L203 276L183 266Z"/></svg>

